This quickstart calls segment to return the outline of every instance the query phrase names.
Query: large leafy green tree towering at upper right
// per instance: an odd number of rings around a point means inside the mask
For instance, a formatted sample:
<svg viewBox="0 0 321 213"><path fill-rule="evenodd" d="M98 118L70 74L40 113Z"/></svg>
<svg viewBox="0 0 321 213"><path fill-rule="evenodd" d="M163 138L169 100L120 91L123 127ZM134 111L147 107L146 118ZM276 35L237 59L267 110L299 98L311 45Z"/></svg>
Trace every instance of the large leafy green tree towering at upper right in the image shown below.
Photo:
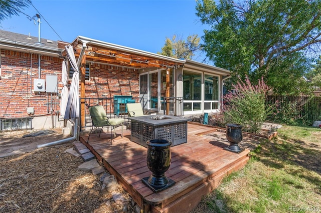
<svg viewBox="0 0 321 213"><path fill-rule="evenodd" d="M321 44L321 0L197 0L204 50L232 82L264 77L276 93L307 90L303 76Z"/></svg>

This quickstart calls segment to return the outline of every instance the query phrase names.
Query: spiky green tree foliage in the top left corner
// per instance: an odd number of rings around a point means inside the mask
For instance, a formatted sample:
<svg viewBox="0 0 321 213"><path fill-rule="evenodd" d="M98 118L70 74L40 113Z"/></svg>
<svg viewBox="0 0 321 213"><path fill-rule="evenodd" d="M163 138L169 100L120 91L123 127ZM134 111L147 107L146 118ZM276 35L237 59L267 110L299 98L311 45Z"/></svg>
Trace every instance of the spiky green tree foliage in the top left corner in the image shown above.
<svg viewBox="0 0 321 213"><path fill-rule="evenodd" d="M31 0L0 0L0 23L12 15L19 15L21 9L30 3Z"/></svg>

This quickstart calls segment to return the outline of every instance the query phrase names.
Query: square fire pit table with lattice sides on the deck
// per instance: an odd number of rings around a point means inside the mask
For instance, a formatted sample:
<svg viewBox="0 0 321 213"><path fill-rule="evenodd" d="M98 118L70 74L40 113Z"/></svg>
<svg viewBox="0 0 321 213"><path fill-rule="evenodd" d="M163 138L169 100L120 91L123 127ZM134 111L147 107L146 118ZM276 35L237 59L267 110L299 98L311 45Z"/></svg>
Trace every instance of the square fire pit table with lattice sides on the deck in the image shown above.
<svg viewBox="0 0 321 213"><path fill-rule="evenodd" d="M167 139L172 145L187 142L187 121L190 118L162 115L164 119L157 118L160 115L145 115L128 117L131 120L130 140L147 147L146 141L151 139Z"/></svg>

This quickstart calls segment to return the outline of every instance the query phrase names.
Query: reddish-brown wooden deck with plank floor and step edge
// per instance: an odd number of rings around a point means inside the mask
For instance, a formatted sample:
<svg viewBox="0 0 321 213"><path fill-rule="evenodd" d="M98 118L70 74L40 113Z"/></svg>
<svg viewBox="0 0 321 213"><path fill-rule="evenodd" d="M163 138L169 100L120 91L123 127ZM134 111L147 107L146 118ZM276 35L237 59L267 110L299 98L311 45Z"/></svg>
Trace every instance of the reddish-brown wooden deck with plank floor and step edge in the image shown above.
<svg viewBox="0 0 321 213"><path fill-rule="evenodd" d="M166 172L176 184L157 193L141 181L151 174L146 164L147 148L130 141L130 130L124 130L122 138L118 131L112 144L108 132L100 137L92 133L89 143L88 135L80 140L144 212L189 212L224 176L242 168L249 159L248 149L233 153L223 149L226 139L202 136L215 131L214 127L188 123L188 142L171 147L172 162Z"/></svg>

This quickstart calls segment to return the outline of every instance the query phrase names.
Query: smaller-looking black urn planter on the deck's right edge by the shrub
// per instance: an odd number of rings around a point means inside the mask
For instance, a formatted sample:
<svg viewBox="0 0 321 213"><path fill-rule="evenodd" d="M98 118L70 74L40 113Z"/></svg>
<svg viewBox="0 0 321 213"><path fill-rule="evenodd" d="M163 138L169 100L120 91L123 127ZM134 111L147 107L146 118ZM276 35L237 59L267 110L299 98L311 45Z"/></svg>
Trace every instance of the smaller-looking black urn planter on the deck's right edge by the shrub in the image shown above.
<svg viewBox="0 0 321 213"><path fill-rule="evenodd" d="M228 147L225 147L225 150L240 153L244 148L240 148L239 142L242 141L242 125L237 123L227 123L226 124L226 138L230 142Z"/></svg>

